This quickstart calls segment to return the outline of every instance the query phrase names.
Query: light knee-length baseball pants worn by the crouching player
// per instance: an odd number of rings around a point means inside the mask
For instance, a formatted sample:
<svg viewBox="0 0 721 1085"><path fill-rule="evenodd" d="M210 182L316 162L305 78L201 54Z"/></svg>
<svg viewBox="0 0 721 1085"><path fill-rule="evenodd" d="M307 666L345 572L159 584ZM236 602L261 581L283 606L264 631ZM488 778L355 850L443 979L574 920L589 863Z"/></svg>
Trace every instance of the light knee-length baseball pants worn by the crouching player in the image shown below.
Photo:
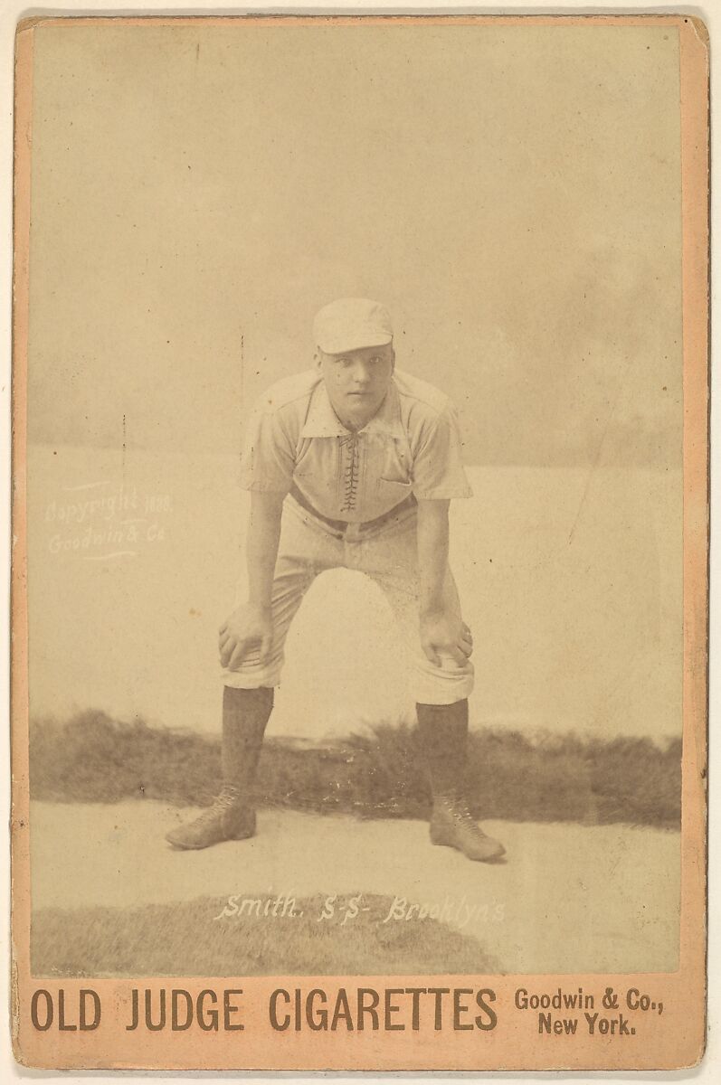
<svg viewBox="0 0 721 1085"><path fill-rule="evenodd" d="M305 592L326 570L352 569L375 580L391 604L400 633L410 649L416 701L454 704L465 700L473 688L470 660L460 665L448 658L442 660L441 666L434 666L420 647L416 529L417 510L409 508L381 525L351 524L341 533L287 497L273 583L274 638L269 656L261 664L260 646L254 647L237 668L224 669L224 685L236 689L277 686L288 630ZM446 610L460 616L450 569L443 595Z"/></svg>

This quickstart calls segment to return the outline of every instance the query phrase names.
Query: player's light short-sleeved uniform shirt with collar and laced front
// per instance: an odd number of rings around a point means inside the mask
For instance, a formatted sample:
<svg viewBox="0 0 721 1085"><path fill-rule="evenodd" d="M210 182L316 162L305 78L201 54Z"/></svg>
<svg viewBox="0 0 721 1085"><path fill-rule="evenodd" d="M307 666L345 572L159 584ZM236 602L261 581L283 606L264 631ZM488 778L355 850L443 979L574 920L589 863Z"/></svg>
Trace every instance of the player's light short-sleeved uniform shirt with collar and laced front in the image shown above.
<svg viewBox="0 0 721 1085"><path fill-rule="evenodd" d="M375 520L409 494L472 496L451 400L397 370L355 433L336 414L319 369L278 381L249 421L240 484L277 494L295 486L321 515L347 523Z"/></svg>

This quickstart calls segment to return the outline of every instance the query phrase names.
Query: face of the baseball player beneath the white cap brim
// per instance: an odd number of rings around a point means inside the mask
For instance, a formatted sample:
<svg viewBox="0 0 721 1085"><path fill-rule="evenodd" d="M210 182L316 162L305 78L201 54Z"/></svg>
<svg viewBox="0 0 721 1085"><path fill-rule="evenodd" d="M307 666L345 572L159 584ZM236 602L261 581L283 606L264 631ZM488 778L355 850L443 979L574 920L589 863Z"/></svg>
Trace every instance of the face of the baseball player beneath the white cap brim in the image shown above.
<svg viewBox="0 0 721 1085"><path fill-rule="evenodd" d="M333 410L350 429L360 429L385 398L395 362L393 345L366 346L345 354L318 350L318 358Z"/></svg>

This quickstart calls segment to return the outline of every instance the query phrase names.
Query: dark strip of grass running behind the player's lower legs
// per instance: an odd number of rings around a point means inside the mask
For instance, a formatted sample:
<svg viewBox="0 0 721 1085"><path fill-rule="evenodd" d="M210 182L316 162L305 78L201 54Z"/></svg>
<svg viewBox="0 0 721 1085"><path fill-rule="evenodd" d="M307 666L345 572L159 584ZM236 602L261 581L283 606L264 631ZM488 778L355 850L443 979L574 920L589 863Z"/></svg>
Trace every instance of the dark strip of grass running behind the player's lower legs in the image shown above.
<svg viewBox="0 0 721 1085"><path fill-rule="evenodd" d="M114 720L84 712L30 727L33 797L116 802L147 797L210 803L220 779L217 737ZM678 829L681 741L612 741L575 735L473 731L467 794L480 818L515 821L624 821ZM271 738L258 773L258 800L315 813L425 818L430 809L418 732L381 724L324 744Z"/></svg>

